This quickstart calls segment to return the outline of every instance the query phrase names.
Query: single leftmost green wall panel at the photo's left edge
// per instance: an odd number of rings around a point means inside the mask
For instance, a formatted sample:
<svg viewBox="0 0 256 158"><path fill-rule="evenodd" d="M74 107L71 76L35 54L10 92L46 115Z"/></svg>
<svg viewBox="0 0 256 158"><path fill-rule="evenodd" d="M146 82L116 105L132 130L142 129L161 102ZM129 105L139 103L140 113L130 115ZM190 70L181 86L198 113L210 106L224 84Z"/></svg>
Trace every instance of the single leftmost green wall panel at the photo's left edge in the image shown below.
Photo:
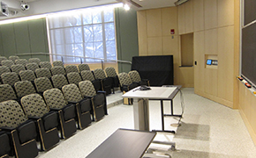
<svg viewBox="0 0 256 158"><path fill-rule="evenodd" d="M1 25L3 56L9 57L16 54L16 41L13 24Z"/></svg>

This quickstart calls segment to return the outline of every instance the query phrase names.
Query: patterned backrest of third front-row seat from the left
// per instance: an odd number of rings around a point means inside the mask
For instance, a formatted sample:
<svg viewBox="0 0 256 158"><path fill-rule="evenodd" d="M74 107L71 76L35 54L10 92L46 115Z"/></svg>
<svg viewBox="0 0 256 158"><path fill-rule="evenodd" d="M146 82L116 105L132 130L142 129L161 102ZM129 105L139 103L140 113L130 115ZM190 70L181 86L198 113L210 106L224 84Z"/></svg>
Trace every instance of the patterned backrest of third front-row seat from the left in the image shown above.
<svg viewBox="0 0 256 158"><path fill-rule="evenodd" d="M62 109L67 104L62 91L58 89L44 91L43 97L49 108Z"/></svg>

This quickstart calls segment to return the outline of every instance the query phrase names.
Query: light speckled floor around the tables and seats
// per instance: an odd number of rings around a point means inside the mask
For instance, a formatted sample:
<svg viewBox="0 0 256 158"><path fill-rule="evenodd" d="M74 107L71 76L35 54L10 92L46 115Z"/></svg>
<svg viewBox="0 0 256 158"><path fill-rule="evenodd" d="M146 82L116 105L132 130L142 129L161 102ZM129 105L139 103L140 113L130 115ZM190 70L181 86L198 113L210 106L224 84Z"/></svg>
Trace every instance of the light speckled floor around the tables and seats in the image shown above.
<svg viewBox="0 0 256 158"><path fill-rule="evenodd" d="M158 133L155 140L176 142L176 151L169 146L151 144L156 153L170 154L173 158L255 158L256 147L237 110L217 104L193 93L193 89L182 89L184 95L184 118L177 127L177 118L165 118L167 129L175 135ZM108 97L109 115L94 122L86 129L78 130L71 138L47 152L40 152L40 158L82 158L98 147L118 128L133 129L132 105L114 104L122 101L122 93ZM112 104L111 104L112 103ZM160 103L149 102L150 128L161 129ZM169 111L169 102L164 102L164 111ZM174 112L181 113L180 96L174 99Z"/></svg>

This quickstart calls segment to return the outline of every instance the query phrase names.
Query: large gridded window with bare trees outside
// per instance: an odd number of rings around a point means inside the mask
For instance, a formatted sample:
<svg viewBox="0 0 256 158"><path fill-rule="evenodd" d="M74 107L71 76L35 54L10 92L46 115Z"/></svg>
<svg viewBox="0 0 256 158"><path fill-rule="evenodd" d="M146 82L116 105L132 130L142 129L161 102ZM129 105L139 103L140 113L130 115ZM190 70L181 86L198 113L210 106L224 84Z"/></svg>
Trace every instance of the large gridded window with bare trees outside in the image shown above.
<svg viewBox="0 0 256 158"><path fill-rule="evenodd" d="M64 63L79 63L79 57L117 60L113 8L49 15L48 21L51 53L68 55L64 56ZM61 60L60 55L53 55L52 60ZM101 60L87 58L85 61Z"/></svg>

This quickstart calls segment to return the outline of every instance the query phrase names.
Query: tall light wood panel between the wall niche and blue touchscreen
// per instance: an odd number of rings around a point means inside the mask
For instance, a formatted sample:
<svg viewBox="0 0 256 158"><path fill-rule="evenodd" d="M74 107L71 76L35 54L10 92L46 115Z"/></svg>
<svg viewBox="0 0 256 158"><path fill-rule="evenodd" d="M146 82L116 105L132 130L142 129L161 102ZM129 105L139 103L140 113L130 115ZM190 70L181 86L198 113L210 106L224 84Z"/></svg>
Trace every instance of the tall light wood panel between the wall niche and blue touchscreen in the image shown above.
<svg viewBox="0 0 256 158"><path fill-rule="evenodd" d="M204 91L205 75L205 32L194 32L194 90Z"/></svg>

